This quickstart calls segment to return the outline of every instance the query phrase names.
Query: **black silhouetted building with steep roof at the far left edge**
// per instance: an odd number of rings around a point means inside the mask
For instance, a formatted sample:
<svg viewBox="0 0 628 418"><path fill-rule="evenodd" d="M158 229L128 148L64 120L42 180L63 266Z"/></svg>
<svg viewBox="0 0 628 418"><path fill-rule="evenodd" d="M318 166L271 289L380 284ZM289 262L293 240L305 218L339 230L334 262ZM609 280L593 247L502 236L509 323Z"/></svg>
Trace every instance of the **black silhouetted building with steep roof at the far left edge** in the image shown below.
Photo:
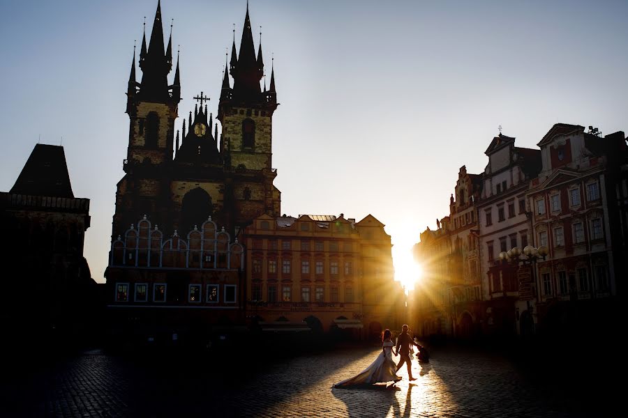
<svg viewBox="0 0 628 418"><path fill-rule="evenodd" d="M2 304L6 335L48 346L84 331L97 297L83 257L89 199L74 196L63 147L35 146L10 192L0 193L0 212L6 295L24 296Z"/></svg>

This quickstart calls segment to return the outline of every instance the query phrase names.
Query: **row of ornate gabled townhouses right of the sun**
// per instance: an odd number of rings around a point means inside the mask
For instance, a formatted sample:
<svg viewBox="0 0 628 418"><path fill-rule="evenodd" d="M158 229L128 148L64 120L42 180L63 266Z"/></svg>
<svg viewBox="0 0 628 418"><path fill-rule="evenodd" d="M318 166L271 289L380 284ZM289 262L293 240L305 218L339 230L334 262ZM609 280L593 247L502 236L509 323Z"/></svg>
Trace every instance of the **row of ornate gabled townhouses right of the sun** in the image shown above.
<svg viewBox="0 0 628 418"><path fill-rule="evenodd" d="M624 132L601 137L558 123L540 150L514 141L493 138L481 176L463 167L449 216L421 233L415 255L425 274L410 295L417 329L461 337L612 332L627 268ZM476 283L480 297L463 291Z"/></svg>

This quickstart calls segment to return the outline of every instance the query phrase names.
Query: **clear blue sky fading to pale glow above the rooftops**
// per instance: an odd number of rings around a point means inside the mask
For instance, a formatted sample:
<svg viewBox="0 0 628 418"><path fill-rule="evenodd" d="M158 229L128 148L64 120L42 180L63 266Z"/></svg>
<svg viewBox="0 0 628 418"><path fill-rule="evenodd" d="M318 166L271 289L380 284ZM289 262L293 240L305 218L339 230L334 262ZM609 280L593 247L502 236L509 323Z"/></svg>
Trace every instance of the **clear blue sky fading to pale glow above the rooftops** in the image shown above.
<svg viewBox="0 0 628 418"><path fill-rule="evenodd" d="M133 42L144 16L150 35L156 4L0 0L0 190L39 138L63 138L74 194L91 199L85 256L100 282L124 174ZM215 114L246 1L161 6L166 36L174 19L181 45L179 114L200 91ZM558 122L628 130L627 1L251 0L250 12L267 68L275 57L282 212L373 214L392 236L400 279L419 232L447 215L458 169L484 170L499 125L529 148Z"/></svg>

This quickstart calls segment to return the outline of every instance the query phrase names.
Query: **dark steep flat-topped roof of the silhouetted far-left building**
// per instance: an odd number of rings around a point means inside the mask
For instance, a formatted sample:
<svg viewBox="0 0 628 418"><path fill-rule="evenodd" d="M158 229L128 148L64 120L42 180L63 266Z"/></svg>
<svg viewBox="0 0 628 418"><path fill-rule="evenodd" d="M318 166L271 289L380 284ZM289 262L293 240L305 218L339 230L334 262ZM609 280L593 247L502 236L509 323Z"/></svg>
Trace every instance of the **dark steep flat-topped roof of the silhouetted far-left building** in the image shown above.
<svg viewBox="0 0 628 418"><path fill-rule="evenodd" d="M63 147L37 144L10 193L74 198Z"/></svg>

